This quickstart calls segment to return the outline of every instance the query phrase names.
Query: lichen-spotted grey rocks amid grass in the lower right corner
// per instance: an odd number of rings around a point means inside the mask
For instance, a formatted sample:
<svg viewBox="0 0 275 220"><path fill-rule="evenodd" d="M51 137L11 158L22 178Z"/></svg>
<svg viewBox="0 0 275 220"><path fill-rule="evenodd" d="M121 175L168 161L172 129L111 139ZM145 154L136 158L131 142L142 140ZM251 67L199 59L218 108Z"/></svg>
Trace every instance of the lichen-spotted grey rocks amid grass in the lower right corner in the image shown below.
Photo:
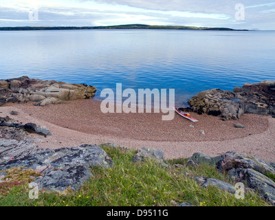
<svg viewBox="0 0 275 220"><path fill-rule="evenodd" d="M257 157L231 151L217 157L194 153L189 159L197 164L215 166L219 171L227 173L236 182L243 182L246 187L255 190L263 199L275 205L274 162L264 162ZM202 187L215 186L232 194L236 191L234 186L218 179L194 178Z"/></svg>

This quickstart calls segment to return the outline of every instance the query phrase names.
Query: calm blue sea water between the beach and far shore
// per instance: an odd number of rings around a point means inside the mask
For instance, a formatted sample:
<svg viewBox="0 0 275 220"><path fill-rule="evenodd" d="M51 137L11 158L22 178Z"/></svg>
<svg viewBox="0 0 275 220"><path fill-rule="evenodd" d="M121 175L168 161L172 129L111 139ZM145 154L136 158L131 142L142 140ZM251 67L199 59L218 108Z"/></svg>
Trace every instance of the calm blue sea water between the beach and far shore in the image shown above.
<svg viewBox="0 0 275 220"><path fill-rule="evenodd" d="M116 83L122 89L175 89L181 104L206 89L275 80L275 32L0 32L0 78L23 75L100 90Z"/></svg>

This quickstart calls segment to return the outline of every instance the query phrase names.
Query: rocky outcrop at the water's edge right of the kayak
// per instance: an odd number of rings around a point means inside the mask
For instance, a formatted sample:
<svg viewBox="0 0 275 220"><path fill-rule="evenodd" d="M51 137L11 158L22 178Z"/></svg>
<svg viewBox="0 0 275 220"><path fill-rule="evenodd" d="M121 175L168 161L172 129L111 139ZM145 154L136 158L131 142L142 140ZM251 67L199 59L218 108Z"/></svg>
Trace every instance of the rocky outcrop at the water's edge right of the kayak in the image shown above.
<svg viewBox="0 0 275 220"><path fill-rule="evenodd" d="M233 91L201 91L188 104L192 111L220 116L223 120L240 118L243 113L275 115L275 81L247 83Z"/></svg>

